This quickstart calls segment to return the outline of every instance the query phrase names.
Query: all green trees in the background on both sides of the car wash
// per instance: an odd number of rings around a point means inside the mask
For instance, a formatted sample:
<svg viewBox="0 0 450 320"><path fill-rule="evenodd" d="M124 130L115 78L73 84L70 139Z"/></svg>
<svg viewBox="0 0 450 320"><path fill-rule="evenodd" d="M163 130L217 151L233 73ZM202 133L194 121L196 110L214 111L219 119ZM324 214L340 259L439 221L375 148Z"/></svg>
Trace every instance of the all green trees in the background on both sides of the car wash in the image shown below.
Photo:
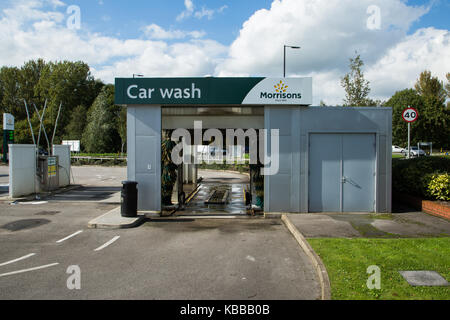
<svg viewBox="0 0 450 320"><path fill-rule="evenodd" d="M406 88L387 101L369 98L370 83L364 78L364 62L359 54L350 59L350 71L341 79L345 89L344 106L392 107L392 143L405 146L407 126L402 111L410 106L419 112L411 125L411 143L432 142L437 148L450 149L450 73L447 83L439 81L430 71L423 71L414 88ZM39 132L36 105L42 114L47 108L44 126L53 132L59 105L62 111L55 134L55 144L62 140L81 140L81 148L89 153L126 151L126 110L114 104L114 85L104 84L90 73L82 61L45 62L30 60L21 67L0 69L0 112L15 117L15 143L30 144L32 136L27 120L26 101L35 136ZM395 77L396 75L392 75ZM326 105L321 101L321 105ZM0 128L3 125L0 122ZM45 139L40 147L46 149Z"/></svg>

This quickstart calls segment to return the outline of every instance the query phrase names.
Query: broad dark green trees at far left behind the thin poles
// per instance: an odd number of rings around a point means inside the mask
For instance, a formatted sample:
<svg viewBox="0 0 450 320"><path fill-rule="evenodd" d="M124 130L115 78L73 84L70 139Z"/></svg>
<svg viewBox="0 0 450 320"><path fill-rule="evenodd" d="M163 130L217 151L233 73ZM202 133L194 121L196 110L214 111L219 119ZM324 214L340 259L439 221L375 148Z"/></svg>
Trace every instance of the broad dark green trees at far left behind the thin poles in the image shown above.
<svg viewBox="0 0 450 320"><path fill-rule="evenodd" d="M30 120L35 135L39 131L39 118L33 104L42 114L45 101L44 126L51 139L59 105L62 111L56 130L55 143L59 143L72 120L72 111L78 106L86 109L92 105L103 83L95 80L87 64L78 62L49 62L42 59L30 60L20 68L2 67L0 69L0 112L11 113L17 123L15 137L18 143L32 143L28 126L24 99L28 104ZM78 110L79 111L79 110ZM44 143L45 139L41 139ZM46 143L45 143L45 147Z"/></svg>

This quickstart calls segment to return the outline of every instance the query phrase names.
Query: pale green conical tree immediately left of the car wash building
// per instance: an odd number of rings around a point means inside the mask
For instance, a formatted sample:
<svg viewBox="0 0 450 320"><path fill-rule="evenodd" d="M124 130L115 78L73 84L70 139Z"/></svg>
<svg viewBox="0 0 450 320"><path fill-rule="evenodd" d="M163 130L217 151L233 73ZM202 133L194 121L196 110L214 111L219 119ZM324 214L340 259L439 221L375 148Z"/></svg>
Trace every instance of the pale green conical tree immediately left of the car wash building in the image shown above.
<svg viewBox="0 0 450 320"><path fill-rule="evenodd" d="M87 126L81 143L87 152L109 153L120 150L114 105L114 86L106 85L95 99L87 115Z"/></svg>

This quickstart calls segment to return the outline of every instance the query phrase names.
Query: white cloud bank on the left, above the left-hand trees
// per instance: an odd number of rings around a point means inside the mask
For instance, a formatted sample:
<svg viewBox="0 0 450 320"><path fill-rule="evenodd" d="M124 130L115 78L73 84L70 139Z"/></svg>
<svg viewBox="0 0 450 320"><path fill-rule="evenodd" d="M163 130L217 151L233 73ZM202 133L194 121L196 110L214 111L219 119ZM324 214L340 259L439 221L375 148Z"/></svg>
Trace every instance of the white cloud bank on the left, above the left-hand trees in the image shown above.
<svg viewBox="0 0 450 320"><path fill-rule="evenodd" d="M200 40L201 31L166 31L157 25L149 30L153 40L121 40L65 26L64 15L44 12L42 1L14 5L0 15L0 65L21 66L30 59L82 60L94 76L113 82L117 76L203 76L214 72L226 47L214 40ZM16 12L21 12L18 16ZM162 38L181 39L168 44Z"/></svg>

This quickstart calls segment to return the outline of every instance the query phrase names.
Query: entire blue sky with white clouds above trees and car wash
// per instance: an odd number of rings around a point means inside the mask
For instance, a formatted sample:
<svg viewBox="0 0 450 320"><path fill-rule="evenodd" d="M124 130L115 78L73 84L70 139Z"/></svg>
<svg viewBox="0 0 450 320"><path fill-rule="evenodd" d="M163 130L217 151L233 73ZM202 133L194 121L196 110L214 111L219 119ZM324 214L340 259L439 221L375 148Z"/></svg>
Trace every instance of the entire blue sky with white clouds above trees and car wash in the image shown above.
<svg viewBox="0 0 450 320"><path fill-rule="evenodd" d="M370 98L450 72L448 0L0 0L0 66L82 60L115 77L313 77L342 104L355 52Z"/></svg>

